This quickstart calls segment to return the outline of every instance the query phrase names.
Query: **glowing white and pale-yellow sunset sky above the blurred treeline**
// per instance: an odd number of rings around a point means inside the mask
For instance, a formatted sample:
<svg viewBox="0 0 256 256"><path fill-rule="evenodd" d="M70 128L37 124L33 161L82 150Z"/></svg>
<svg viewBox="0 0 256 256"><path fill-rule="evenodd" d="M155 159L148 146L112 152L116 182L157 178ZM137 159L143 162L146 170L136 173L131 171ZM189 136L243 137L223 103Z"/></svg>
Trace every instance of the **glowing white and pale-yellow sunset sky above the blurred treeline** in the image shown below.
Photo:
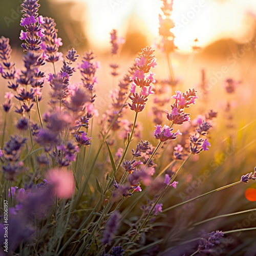
<svg viewBox="0 0 256 256"><path fill-rule="evenodd" d="M60 1L60 0L55 0ZM127 20L134 14L147 27L151 38L158 34L160 0L77 0L84 2L87 32L91 42L102 46L109 41L109 33L115 28L125 35ZM63 2L63 0L62 0ZM80 11L77 5L71 12ZM190 48L195 38L199 45L220 37L243 40L252 29L252 16L256 13L256 0L174 0L173 18L177 29L176 44L180 49Z"/></svg>

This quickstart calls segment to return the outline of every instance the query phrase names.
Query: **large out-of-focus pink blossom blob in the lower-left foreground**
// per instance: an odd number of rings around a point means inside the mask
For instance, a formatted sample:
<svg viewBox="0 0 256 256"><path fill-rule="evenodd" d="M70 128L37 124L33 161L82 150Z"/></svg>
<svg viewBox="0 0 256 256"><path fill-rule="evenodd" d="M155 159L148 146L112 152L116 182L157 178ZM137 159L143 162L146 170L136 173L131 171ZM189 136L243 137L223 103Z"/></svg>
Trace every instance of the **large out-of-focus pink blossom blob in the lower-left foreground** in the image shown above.
<svg viewBox="0 0 256 256"><path fill-rule="evenodd" d="M75 191L73 173L66 169L51 169L47 173L48 183L53 185L54 193L59 199L71 198Z"/></svg>

